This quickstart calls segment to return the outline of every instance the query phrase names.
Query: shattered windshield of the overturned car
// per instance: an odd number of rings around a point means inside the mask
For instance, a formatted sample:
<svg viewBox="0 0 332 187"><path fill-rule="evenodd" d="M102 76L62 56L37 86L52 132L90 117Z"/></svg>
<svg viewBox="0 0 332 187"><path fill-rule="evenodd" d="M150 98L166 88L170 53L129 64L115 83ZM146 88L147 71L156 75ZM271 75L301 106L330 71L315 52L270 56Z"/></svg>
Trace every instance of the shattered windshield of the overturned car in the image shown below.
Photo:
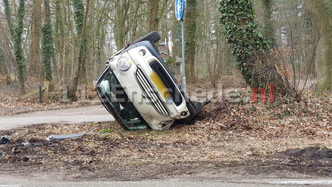
<svg viewBox="0 0 332 187"><path fill-rule="evenodd" d="M96 91L106 109L114 118L120 119L128 130L147 127L109 68L98 79Z"/></svg>

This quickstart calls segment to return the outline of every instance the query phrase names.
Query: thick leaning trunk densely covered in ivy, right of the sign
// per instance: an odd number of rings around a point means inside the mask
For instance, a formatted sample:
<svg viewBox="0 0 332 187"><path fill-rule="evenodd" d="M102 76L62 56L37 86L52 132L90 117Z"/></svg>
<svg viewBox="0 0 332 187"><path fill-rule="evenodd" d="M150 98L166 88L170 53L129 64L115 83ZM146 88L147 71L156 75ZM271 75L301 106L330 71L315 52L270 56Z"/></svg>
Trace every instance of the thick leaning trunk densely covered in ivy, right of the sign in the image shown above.
<svg viewBox="0 0 332 187"><path fill-rule="evenodd" d="M237 60L246 83L252 88L266 88L275 78L270 42L258 30L251 0L220 0L220 24L225 30L230 51Z"/></svg>

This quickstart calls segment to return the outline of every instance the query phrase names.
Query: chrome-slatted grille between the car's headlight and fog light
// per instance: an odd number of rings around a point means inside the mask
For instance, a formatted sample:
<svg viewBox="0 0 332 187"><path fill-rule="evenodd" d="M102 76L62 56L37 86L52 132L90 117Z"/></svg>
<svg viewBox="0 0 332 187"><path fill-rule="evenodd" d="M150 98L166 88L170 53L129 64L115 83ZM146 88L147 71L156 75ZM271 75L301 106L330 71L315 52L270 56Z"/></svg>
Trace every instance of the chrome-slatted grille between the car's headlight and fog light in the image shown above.
<svg viewBox="0 0 332 187"><path fill-rule="evenodd" d="M164 102L160 99L159 95L156 93L155 89L152 87L150 81L146 78L145 74L139 66L135 72L136 80L141 89L143 90L145 96L148 97L150 103L153 107L164 116L169 116L169 113L165 107Z"/></svg>

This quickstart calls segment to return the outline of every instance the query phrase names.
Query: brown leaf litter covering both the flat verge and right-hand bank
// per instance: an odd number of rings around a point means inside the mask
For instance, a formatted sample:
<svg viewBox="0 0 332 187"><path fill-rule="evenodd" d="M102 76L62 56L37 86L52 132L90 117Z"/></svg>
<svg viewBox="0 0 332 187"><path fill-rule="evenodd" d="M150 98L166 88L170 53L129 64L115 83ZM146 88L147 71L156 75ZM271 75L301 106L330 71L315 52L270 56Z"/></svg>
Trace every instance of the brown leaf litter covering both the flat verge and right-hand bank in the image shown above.
<svg viewBox="0 0 332 187"><path fill-rule="evenodd" d="M144 164L192 165L204 161L262 159L275 152L323 145L331 140L331 97L308 94L300 102L210 103L193 121L168 131L125 131L116 122L41 124L0 131L13 143L0 152L31 156L29 164L94 168ZM101 133L107 129L108 133ZM50 134L95 131L83 137L46 141ZM145 135L147 134L147 135ZM32 147L24 147L28 141ZM56 147L50 145L57 144ZM1 160L16 163L19 159ZM22 164L22 163L21 163ZM194 166L194 165L192 165Z"/></svg>

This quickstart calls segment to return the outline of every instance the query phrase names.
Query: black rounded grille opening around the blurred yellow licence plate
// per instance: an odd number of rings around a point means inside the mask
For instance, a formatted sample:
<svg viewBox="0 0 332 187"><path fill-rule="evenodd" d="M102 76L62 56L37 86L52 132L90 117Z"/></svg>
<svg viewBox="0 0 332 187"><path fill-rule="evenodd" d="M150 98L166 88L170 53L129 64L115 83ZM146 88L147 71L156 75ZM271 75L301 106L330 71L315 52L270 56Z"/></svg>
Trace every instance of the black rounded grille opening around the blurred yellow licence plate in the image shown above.
<svg viewBox="0 0 332 187"><path fill-rule="evenodd" d="M176 106L179 106L182 103L182 97L171 78L167 75L163 67L156 61L150 62L150 67L153 71L157 72L161 80L164 82L166 88L169 89L173 96L173 102Z"/></svg>

